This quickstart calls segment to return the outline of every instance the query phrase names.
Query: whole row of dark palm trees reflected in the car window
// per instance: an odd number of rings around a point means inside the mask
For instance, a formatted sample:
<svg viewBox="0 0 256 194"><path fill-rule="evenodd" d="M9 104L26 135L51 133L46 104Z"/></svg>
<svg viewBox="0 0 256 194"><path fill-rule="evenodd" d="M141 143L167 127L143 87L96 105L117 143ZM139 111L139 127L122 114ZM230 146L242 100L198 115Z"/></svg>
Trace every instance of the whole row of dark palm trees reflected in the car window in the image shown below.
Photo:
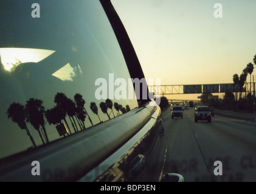
<svg viewBox="0 0 256 194"><path fill-rule="evenodd" d="M59 125L62 122L64 122L69 131L69 133L67 133L67 136L72 134L71 126L72 130L74 130L75 133L86 129L86 116L88 116L91 125L94 125L91 117L85 109L85 99L83 99L83 96L79 93L74 95L74 99L67 98L67 96L64 93L57 93L55 95L54 102L55 106L52 109L45 110L43 106L43 101L41 99L30 98L28 101L26 101L26 105L13 102L12 104L10 104L9 109L7 110L8 118L12 119L12 121L18 124L18 126L22 130L26 131L27 135L32 141L32 147L36 147L36 143L31 133L29 132L27 122L30 122L33 128L38 132L43 144L49 143L49 138L44 127L47 122L50 125ZM99 121L103 122L100 119L98 107L95 102L91 102L90 109L92 113L98 116ZM108 116L109 119L111 119L111 113L114 117L116 117L113 112L113 109L116 109L117 115L120 115L120 112L126 113L130 111L129 105L123 107L121 104L118 104L117 102L114 102L113 104L111 99L106 99L105 102L100 102L100 109L103 113L105 113ZM109 113L108 109L110 109ZM67 122L66 118L68 118L71 122L71 126L69 125L69 122Z"/></svg>

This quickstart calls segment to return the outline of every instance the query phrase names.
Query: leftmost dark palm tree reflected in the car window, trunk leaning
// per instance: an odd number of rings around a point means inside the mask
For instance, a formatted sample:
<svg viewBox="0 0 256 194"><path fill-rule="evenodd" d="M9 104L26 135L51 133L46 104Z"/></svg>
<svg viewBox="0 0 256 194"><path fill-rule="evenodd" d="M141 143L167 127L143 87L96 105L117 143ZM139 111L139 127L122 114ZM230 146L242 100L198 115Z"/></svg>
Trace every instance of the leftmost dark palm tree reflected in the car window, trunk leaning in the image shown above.
<svg viewBox="0 0 256 194"><path fill-rule="evenodd" d="M23 105L13 102L9 109L7 110L8 118L11 118L13 122L16 122L21 129L25 129L27 132L27 135L29 136L30 140L32 141L32 144L34 147L36 147L35 141L32 137L32 135L29 132L29 129L27 128L25 119L26 119L26 110Z"/></svg>

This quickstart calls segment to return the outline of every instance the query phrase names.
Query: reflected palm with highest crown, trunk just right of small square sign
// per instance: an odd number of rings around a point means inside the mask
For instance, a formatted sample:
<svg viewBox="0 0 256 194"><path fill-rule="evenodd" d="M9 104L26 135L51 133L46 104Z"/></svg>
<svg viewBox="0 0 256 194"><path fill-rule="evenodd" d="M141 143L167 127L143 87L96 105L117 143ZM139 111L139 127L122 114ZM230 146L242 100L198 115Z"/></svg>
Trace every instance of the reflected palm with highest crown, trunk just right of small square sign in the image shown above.
<svg viewBox="0 0 256 194"><path fill-rule="evenodd" d="M54 97L54 102L57 104L56 109L61 113L61 119L64 120L64 122L67 125L67 129L69 130L69 133L71 133L71 130L69 128L69 125L67 124L66 121L66 101L67 101L67 96L64 95L64 93L57 93ZM71 133L72 134L72 133Z"/></svg>

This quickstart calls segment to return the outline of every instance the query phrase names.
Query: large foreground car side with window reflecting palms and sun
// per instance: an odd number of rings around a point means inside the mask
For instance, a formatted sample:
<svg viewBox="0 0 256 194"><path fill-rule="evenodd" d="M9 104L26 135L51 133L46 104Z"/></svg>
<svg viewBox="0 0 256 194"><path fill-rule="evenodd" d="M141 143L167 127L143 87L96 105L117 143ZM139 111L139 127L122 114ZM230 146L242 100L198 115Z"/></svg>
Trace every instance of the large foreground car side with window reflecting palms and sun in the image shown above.
<svg viewBox="0 0 256 194"><path fill-rule="evenodd" d="M0 24L0 181L126 181L135 156L165 145L145 88L109 89L145 78L111 1L2 0Z"/></svg>

